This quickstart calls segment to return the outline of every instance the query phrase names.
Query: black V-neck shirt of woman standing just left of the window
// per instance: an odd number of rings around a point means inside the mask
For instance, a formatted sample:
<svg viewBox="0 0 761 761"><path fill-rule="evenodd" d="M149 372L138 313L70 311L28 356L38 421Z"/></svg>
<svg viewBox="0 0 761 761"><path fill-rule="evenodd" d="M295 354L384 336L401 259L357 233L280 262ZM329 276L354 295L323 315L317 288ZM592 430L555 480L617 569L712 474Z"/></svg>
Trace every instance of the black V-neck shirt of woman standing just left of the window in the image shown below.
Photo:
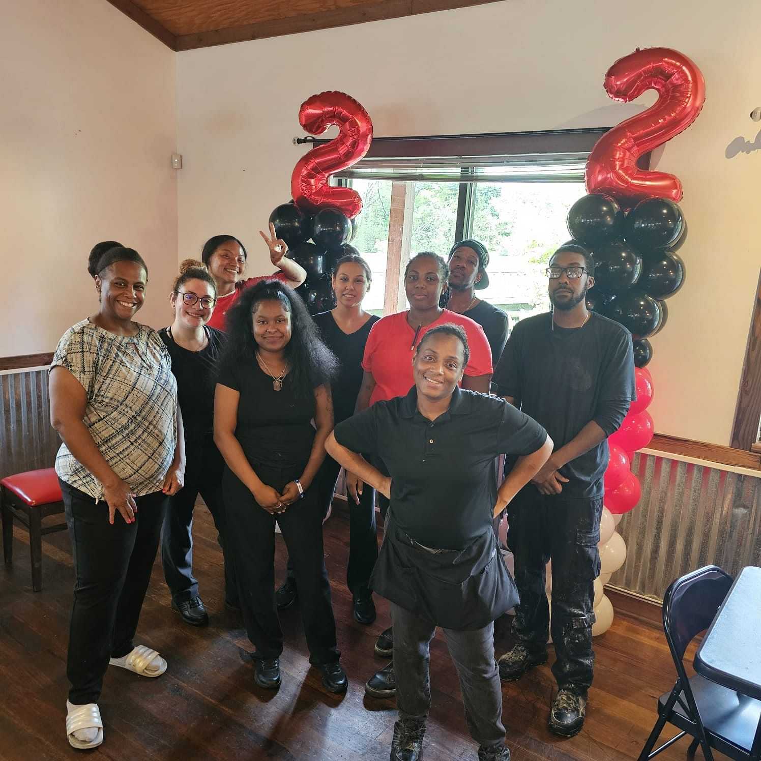
<svg viewBox="0 0 761 761"><path fill-rule="evenodd" d="M313 317L323 341L336 357L341 366L336 380L331 385L333 393L333 416L336 423L350 418L354 414L359 387L362 384L362 357L368 342L370 329L380 320L371 315L370 319L354 333L344 333L333 319L332 312L320 312Z"/></svg>

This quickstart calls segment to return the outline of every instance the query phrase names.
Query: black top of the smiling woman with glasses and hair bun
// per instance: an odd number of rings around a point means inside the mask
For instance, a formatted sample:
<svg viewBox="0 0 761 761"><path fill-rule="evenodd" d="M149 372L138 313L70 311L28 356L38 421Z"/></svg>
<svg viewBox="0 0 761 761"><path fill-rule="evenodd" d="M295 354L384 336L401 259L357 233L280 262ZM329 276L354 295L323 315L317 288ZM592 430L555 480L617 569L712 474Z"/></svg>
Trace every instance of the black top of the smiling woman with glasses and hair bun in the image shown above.
<svg viewBox="0 0 761 761"><path fill-rule="evenodd" d="M159 330L161 340L172 358L172 373L177 379L177 400L183 415L185 447L188 462L199 454L214 435L214 388L217 383L217 363L226 336L221 330L204 328L209 336L200 352L183 349L174 342L167 328Z"/></svg>

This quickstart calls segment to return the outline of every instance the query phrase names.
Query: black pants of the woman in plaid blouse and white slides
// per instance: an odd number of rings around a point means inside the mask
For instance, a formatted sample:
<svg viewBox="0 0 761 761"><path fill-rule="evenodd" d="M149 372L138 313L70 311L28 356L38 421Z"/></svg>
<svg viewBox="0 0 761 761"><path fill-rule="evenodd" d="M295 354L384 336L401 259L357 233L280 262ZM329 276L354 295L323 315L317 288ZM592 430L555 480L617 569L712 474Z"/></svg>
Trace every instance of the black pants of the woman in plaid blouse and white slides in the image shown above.
<svg viewBox="0 0 761 761"><path fill-rule="evenodd" d="M135 523L117 513L108 522L108 504L63 481L66 523L72 537L76 583L68 634L66 676L73 705L97 703L109 658L132 651L161 523L169 498L162 492L138 497Z"/></svg>

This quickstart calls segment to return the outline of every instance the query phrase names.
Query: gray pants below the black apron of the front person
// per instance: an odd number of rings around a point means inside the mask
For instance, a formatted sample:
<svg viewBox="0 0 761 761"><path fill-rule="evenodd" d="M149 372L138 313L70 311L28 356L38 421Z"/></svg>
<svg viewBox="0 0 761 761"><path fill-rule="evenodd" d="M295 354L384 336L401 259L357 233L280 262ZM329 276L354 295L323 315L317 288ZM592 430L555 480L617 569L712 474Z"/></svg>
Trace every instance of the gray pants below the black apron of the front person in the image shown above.
<svg viewBox="0 0 761 761"><path fill-rule="evenodd" d="M431 708L428 676L430 645L436 627L391 603L393 670L399 718L425 721ZM483 746L505 740L502 690L494 659L494 624L468 632L442 629L449 654L460 677L465 718L470 734Z"/></svg>

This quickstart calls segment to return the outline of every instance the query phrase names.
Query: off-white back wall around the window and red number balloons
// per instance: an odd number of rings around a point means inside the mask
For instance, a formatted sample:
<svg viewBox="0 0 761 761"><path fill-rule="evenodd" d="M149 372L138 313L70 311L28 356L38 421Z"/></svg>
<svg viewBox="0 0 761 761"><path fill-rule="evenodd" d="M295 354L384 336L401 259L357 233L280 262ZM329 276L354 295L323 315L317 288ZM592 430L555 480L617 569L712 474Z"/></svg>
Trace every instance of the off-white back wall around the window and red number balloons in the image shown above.
<svg viewBox="0 0 761 761"><path fill-rule="evenodd" d="M653 340L651 413L661 433L728 444L761 263L761 151L725 151L758 132L759 29L756 0L509 0L180 53L180 256L230 232L250 270L269 269L256 229L289 197L310 94L348 92L377 136L607 126L632 113L605 94L608 66L637 46L679 49L708 97L656 164L683 181L689 241L686 284Z"/></svg>

